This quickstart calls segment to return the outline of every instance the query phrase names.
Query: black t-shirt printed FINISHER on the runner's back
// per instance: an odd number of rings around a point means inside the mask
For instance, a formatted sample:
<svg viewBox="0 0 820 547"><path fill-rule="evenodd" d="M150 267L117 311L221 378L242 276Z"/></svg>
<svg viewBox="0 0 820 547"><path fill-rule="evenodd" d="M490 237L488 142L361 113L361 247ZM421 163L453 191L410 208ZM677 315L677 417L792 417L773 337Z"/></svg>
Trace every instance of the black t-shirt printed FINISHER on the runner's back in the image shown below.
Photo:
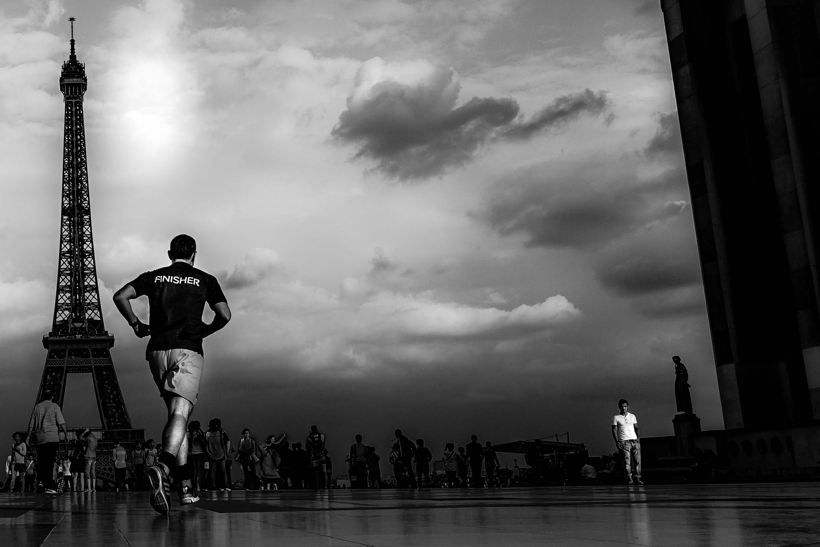
<svg viewBox="0 0 820 547"><path fill-rule="evenodd" d="M203 353L203 311L207 302L227 302L216 277L174 262L146 271L129 283L137 296L146 294L151 306L151 340L146 353L166 349L190 349Z"/></svg>

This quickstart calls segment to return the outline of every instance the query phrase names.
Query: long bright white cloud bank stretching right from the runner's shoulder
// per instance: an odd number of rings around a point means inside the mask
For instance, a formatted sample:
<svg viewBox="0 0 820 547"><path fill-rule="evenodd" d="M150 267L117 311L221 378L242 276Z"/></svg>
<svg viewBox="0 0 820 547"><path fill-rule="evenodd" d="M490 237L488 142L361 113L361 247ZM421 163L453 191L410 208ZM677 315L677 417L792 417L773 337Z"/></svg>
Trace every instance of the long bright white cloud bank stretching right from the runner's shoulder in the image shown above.
<svg viewBox="0 0 820 547"><path fill-rule="evenodd" d="M235 267L228 278L235 282L225 283L235 319L221 351L278 354L312 370L378 367L394 358L443 363L581 317L562 295L501 309L438 299L430 290L395 292L369 276L345 279L336 294L284 270L270 249L254 249Z"/></svg>

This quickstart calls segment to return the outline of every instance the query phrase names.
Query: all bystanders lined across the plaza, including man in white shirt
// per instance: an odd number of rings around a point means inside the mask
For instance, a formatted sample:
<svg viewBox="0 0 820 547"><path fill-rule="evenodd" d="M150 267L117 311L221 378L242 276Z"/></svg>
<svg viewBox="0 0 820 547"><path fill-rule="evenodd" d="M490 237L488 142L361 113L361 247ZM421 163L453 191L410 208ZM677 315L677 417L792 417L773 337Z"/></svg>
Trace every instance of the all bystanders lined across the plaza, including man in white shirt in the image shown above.
<svg viewBox="0 0 820 547"><path fill-rule="evenodd" d="M629 413L629 402L618 401L620 413L613 417L612 434L617 453L608 462L607 469L595 470L589 461L581 467L581 476L586 481L602 481L605 477L642 485L640 481L640 430L634 414ZM44 430L43 423L52 422L52 430ZM58 433L61 429L68 437L62 412L57 404L47 399L34 407L27 444L20 433L12 435L11 455L7 458L7 479L3 485L6 491L44 491L58 493L71 491L95 491L98 487L97 460L98 439L89 428L74 431L74 438L65 444L65 450L58 450ZM45 435L43 431L48 431ZM423 439L415 441L397 429L388 462L393 467L395 484L398 488L429 488L433 485L435 472L431 473L433 452ZM310 426L307 437L293 444L287 435L281 433L267 435L265 441L257 443L248 428L242 430L234 444L230 435L222 429L221 420L213 418L206 430L198 420L188 422L185 439L180 443L185 449L187 473L191 477L194 491L231 490L241 484L245 490L279 490L285 488L324 489L331 484L333 467L327 450L326 436L318 427ZM52 439L53 437L53 439ZM376 447L364 444L362 435L355 435L348 454L347 475L351 488L380 488L380 455ZM156 466L162 454L162 444L153 439L143 443L136 440L126 448L119 441L112 449L114 490L153 490L148 470ZM531 466L535 484L544 471L544 450L540 440L531 443L526 453L526 462ZM39 457L39 458L38 458ZM620 460L621 464L616 462ZM232 463L242 468L242 481L231 479ZM499 481L499 458L495 449L487 441L483 446L476 435L465 446L456 448L453 443L444 444L439 460L444 471L444 487L493 487ZM482 476L482 466L484 475ZM622 467L623 475L619 473ZM566 470L562 470L566 472ZM344 472L342 473L345 474ZM599 476L600 475L600 476ZM109 477L110 478L110 477Z"/></svg>

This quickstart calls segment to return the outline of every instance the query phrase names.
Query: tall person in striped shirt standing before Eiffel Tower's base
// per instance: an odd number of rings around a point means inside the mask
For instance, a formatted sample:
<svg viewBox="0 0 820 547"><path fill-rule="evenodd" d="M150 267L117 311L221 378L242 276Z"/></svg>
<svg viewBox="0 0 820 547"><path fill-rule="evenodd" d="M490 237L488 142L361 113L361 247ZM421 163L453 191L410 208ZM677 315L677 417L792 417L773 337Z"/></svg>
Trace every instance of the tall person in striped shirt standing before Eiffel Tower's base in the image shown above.
<svg viewBox="0 0 820 547"><path fill-rule="evenodd" d="M26 439L37 452L35 472L43 483L46 494L57 494L54 484L54 458L57 457L57 447L60 444L60 431L68 439L66 420L62 417L62 410L54 402L57 394L50 388L45 388L40 395L40 402L34 405L29 418L29 434Z"/></svg>

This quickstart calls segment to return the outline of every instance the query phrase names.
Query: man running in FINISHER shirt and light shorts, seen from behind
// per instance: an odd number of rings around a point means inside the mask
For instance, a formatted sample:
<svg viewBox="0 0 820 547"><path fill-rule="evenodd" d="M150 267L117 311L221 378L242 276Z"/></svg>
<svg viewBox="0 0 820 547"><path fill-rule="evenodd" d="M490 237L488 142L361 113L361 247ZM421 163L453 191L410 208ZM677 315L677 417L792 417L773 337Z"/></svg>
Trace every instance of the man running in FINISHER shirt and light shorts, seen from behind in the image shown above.
<svg viewBox="0 0 820 547"><path fill-rule="evenodd" d="M171 266L147 271L114 294L114 303L139 338L150 335L145 359L168 408L162 431L162 453L145 470L151 481L151 507L157 513L170 510L171 481L180 504L194 504L199 497L191 484L188 439L185 431L199 394L203 371L203 338L230 321L230 308L216 277L194 267L197 244L189 235L171 239ZM148 296L150 323L134 315L130 301ZM203 322L205 303L216 313Z"/></svg>

